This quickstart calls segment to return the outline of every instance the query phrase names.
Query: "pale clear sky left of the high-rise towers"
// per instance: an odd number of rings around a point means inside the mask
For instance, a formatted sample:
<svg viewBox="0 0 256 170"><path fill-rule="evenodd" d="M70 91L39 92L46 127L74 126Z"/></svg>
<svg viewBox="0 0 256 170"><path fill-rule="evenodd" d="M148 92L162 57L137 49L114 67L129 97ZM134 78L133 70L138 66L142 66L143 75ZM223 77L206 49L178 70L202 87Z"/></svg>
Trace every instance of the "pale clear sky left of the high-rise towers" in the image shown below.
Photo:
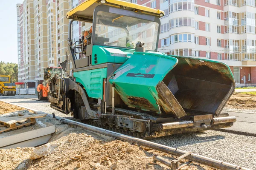
<svg viewBox="0 0 256 170"><path fill-rule="evenodd" d="M0 0L0 61L18 63L16 4L23 0Z"/></svg>

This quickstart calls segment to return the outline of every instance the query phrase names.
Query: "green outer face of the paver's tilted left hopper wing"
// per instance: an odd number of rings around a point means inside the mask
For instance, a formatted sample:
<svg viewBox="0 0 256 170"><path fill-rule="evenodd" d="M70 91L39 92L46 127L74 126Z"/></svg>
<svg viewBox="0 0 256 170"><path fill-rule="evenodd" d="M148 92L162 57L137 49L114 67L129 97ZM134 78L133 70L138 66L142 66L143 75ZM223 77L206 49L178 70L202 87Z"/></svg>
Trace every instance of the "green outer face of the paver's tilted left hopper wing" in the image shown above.
<svg viewBox="0 0 256 170"><path fill-rule="evenodd" d="M110 79L115 90L131 108L159 113L156 86L178 60L160 53L134 52Z"/></svg>

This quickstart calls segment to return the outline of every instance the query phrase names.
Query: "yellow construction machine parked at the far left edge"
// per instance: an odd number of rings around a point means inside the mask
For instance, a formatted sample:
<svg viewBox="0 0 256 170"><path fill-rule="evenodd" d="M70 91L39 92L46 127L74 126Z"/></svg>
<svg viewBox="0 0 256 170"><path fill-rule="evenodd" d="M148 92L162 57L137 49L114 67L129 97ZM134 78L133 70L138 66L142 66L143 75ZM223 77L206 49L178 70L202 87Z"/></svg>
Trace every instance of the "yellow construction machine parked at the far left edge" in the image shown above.
<svg viewBox="0 0 256 170"><path fill-rule="evenodd" d="M0 75L0 94L1 96L15 96L16 85L11 83L11 76Z"/></svg>

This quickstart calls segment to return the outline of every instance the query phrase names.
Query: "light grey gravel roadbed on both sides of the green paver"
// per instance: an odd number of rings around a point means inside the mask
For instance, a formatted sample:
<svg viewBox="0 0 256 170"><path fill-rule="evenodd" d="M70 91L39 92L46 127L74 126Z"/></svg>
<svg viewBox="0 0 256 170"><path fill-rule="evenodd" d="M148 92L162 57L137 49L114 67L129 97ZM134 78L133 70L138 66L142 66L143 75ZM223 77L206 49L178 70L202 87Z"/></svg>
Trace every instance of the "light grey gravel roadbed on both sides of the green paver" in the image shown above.
<svg viewBox="0 0 256 170"><path fill-rule="evenodd" d="M71 116L50 108L49 102L35 100L35 96L30 96L29 98L30 99L20 96L0 96L0 99L6 102L12 102L46 113L54 112L56 116ZM239 112L238 110L236 111ZM243 110L243 112L245 111ZM256 170L256 137L208 130L203 133L178 134L150 140L159 144L192 151L202 156Z"/></svg>

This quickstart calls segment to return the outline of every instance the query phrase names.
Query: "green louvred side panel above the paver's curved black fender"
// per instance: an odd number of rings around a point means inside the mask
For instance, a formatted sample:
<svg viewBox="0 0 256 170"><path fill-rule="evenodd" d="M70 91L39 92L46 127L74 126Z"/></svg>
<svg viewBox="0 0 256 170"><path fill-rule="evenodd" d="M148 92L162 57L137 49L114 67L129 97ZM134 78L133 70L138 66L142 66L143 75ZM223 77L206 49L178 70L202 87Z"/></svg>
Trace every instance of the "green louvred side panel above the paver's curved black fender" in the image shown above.
<svg viewBox="0 0 256 170"><path fill-rule="evenodd" d="M74 77L84 86L89 97L103 99L103 79L107 77L107 68L74 72Z"/></svg>

